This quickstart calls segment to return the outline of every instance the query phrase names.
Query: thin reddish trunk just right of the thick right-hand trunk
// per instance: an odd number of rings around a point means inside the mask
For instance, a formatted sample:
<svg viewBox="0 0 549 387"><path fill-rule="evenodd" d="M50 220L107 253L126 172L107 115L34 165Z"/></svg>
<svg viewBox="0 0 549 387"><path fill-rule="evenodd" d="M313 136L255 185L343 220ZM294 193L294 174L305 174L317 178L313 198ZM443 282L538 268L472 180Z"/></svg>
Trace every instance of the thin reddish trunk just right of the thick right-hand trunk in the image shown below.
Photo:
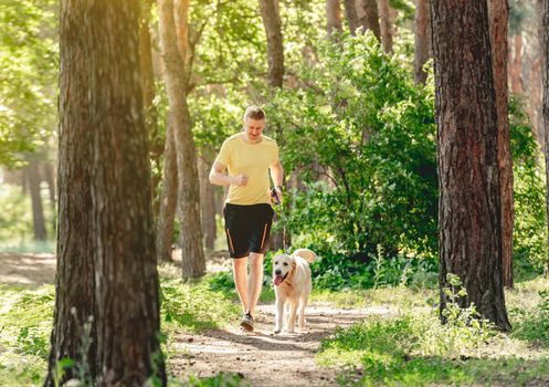
<svg viewBox="0 0 549 387"><path fill-rule="evenodd" d="M494 88L497 109L497 149L502 189L502 259L504 285L513 287L513 160L510 154L509 107L507 90L507 23L509 7L507 0L489 0Z"/></svg>

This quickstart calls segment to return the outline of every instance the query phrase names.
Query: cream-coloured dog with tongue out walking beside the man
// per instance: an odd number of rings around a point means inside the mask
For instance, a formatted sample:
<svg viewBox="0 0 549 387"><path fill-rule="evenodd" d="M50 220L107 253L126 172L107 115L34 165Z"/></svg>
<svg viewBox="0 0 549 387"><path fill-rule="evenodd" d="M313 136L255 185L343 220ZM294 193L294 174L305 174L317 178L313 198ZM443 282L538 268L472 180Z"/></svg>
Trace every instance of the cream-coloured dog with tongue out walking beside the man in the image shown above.
<svg viewBox="0 0 549 387"><path fill-rule="evenodd" d="M276 294L276 322L274 333L283 328L284 312L285 332L294 333L296 314L299 310L299 330L305 328L305 306L310 294L312 280L309 263L316 259L316 253L309 249L297 249L288 254L273 258L273 284Z"/></svg>

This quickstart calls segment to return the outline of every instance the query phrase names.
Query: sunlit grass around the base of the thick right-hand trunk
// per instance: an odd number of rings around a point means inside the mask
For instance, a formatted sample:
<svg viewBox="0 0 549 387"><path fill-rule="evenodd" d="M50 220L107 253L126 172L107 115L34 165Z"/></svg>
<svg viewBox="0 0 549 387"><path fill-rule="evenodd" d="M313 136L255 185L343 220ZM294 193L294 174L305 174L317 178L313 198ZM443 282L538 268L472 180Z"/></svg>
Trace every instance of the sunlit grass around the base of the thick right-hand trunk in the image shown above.
<svg viewBox="0 0 549 387"><path fill-rule="evenodd" d="M536 278L506 291L514 326L508 335L475 324L442 326L434 291L318 293L347 306L381 303L398 313L338 330L323 342L317 362L339 367L341 386L547 385L547 289L546 280Z"/></svg>

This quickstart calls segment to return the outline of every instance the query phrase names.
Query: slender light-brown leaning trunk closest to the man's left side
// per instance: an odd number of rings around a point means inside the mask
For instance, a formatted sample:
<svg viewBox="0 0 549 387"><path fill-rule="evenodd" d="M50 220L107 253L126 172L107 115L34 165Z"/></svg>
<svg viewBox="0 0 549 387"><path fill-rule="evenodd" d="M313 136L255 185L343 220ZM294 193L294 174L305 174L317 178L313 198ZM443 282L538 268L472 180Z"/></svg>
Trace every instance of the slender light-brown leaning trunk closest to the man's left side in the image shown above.
<svg viewBox="0 0 549 387"><path fill-rule="evenodd" d="M178 205L181 222L182 278L200 278L205 273L204 251L202 249L202 228L200 223L199 180L197 153L192 138L189 107L187 105L187 83L189 70L183 59L188 49L178 48L175 8L172 0L159 0L160 43L165 63L166 90L172 114L173 137L176 139L178 166ZM189 8L188 0L181 1L183 9ZM184 11L183 11L184 12ZM181 14L181 11L178 12ZM187 20L181 19L179 30L187 30ZM180 32L181 36L181 32Z"/></svg>

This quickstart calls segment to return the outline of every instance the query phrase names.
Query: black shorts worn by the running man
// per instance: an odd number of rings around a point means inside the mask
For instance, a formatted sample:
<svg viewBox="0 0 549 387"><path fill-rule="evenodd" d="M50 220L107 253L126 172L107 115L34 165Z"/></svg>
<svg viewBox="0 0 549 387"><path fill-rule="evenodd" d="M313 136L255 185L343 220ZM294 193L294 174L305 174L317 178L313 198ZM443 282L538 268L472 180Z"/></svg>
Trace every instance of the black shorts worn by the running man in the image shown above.
<svg viewBox="0 0 549 387"><path fill-rule="evenodd" d="M265 253L273 215L273 208L267 203L225 205L223 216L225 218L226 244L231 258L244 258L251 252Z"/></svg>

